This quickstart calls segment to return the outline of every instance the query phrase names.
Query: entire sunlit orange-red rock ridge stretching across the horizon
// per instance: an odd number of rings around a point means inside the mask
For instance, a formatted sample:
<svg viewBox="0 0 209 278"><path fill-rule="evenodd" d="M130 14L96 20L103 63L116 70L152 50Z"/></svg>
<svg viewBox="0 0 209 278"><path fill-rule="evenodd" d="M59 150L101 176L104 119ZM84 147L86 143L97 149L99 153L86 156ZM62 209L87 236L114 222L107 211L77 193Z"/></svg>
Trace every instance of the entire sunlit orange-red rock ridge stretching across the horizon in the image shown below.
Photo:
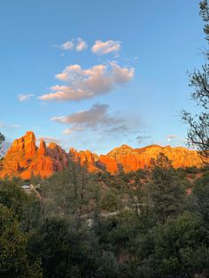
<svg viewBox="0 0 209 278"><path fill-rule="evenodd" d="M71 159L81 163L82 166L87 166L89 172L107 171L117 174L123 170L128 173L150 166L151 158L156 158L159 152L171 159L176 168L203 166L197 151L183 147L150 145L133 149L128 145L121 145L106 155L97 156L91 151L76 151L73 148L66 152L57 143L46 144L43 139L37 147L35 134L27 131L26 135L12 143L4 156L0 177L19 176L22 179L28 179L32 175L49 177L55 172L62 171Z"/></svg>

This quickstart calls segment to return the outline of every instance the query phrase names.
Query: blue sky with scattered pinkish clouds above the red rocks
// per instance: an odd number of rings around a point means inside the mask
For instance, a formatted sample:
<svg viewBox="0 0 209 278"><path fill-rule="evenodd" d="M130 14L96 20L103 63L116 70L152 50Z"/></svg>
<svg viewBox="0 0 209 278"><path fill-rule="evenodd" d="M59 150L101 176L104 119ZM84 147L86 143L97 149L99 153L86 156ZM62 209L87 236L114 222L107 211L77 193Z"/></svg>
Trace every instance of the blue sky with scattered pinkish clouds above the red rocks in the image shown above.
<svg viewBox="0 0 209 278"><path fill-rule="evenodd" d="M196 0L7 0L0 131L67 150L184 145L187 70L204 59Z"/></svg>

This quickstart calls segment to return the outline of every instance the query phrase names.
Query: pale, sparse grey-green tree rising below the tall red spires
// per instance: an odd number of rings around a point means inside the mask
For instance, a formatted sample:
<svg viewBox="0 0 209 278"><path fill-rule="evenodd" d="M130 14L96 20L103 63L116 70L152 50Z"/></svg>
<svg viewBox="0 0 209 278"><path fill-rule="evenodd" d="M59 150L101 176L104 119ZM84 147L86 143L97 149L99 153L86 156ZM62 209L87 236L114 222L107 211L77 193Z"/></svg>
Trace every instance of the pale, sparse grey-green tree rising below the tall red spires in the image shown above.
<svg viewBox="0 0 209 278"><path fill-rule="evenodd" d="M45 216L62 215L74 219L77 229L81 227L81 216L91 210L92 179L87 169L71 161L69 166L43 182L41 195Z"/></svg>

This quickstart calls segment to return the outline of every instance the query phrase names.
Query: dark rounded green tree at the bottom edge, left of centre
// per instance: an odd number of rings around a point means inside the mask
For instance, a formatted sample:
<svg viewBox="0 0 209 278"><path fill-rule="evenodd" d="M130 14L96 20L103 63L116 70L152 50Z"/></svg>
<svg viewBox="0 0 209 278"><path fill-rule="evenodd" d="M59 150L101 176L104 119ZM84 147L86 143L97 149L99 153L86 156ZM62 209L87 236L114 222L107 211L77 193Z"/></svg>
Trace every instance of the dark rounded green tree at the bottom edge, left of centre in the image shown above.
<svg viewBox="0 0 209 278"><path fill-rule="evenodd" d="M43 277L94 277L96 258L85 238L88 235L72 228L71 222L53 217L43 222L30 236L30 257L38 254L42 259Z"/></svg>

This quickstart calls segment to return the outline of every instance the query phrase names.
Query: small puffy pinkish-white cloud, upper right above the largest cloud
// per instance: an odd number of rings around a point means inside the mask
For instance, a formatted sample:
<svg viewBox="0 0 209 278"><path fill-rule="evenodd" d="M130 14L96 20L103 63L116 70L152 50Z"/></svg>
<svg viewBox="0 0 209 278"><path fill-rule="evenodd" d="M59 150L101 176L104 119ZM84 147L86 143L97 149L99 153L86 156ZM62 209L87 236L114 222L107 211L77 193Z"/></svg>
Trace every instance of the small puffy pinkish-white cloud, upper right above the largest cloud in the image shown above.
<svg viewBox="0 0 209 278"><path fill-rule="evenodd" d="M98 55L105 55L111 52L117 53L120 51L121 44L117 41L106 41L102 42L97 40L95 44L92 46L91 50L93 53L97 53Z"/></svg>

